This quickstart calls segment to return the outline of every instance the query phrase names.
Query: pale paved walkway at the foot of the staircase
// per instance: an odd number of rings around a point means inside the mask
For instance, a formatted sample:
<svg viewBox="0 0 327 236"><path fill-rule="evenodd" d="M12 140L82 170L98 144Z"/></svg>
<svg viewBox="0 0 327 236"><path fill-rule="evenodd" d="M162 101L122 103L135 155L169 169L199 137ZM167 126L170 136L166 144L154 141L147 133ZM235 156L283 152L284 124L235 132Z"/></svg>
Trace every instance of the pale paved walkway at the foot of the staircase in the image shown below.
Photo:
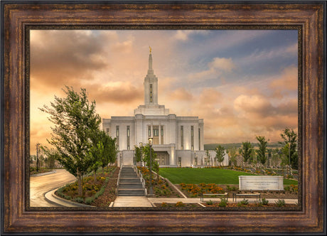
<svg viewBox="0 0 327 236"><path fill-rule="evenodd" d="M117 196L116 200L114 200L114 208L151 208L153 205L145 196Z"/></svg>

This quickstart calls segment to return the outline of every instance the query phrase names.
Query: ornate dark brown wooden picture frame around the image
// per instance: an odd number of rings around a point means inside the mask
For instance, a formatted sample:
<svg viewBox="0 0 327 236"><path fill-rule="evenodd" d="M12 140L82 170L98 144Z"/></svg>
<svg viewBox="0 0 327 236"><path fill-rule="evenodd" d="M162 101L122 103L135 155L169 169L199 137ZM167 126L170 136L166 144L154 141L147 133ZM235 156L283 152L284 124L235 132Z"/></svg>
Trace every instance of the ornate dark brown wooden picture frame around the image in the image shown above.
<svg viewBox="0 0 327 236"><path fill-rule="evenodd" d="M2 1L4 77L1 150L4 234L16 233L326 233L324 157L324 32L326 3ZM301 84L301 208L292 211L42 210L28 208L28 73L26 42L33 28L299 28ZM1 124L2 125L2 124ZM2 143L2 141L1 141ZM325 156L324 156L325 155ZM324 198L325 197L325 198Z"/></svg>

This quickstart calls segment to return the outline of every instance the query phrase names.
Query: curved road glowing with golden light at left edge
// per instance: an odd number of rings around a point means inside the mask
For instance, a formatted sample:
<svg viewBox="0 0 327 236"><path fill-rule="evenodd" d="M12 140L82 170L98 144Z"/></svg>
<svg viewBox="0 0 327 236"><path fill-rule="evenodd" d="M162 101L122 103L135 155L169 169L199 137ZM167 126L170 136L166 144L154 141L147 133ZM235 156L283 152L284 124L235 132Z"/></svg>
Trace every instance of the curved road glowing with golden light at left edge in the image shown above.
<svg viewBox="0 0 327 236"><path fill-rule="evenodd" d="M56 169L56 173L45 176L30 177L30 206L31 207L58 207L55 203L45 200L45 193L66 183L75 181L75 176L64 169Z"/></svg>

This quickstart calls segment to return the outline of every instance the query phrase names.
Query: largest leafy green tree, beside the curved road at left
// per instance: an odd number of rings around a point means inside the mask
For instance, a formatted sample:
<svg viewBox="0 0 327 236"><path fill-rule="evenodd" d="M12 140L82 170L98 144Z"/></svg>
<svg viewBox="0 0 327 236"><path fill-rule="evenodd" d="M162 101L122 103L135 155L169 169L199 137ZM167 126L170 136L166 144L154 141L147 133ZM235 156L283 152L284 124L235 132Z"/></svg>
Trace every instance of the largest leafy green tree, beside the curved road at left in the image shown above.
<svg viewBox="0 0 327 236"><path fill-rule="evenodd" d="M84 88L77 93L73 87L65 86L63 92L66 97L55 96L50 107L44 105L40 109L55 124L48 143L57 149L60 164L77 177L78 193L82 195L82 176L94 165L90 148L97 145L92 138L99 132L101 118L95 113L95 101L88 101Z"/></svg>

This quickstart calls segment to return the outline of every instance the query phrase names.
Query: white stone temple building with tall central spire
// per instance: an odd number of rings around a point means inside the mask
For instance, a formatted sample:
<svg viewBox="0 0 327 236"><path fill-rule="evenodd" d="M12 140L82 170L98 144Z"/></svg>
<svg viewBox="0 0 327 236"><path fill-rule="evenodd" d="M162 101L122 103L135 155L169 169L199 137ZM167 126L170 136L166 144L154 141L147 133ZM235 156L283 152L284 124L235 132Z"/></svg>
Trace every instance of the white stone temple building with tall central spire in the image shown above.
<svg viewBox="0 0 327 236"><path fill-rule="evenodd" d="M203 144L203 119L178 117L158 104L158 77L152 68L151 48L149 69L144 78L144 104L134 109L133 117L102 119L102 128L117 139L117 161L124 165L134 162L134 146L153 138L153 149L159 166L212 166L215 151L208 157ZM228 156L222 163L228 164ZM216 165L216 164L215 164Z"/></svg>

